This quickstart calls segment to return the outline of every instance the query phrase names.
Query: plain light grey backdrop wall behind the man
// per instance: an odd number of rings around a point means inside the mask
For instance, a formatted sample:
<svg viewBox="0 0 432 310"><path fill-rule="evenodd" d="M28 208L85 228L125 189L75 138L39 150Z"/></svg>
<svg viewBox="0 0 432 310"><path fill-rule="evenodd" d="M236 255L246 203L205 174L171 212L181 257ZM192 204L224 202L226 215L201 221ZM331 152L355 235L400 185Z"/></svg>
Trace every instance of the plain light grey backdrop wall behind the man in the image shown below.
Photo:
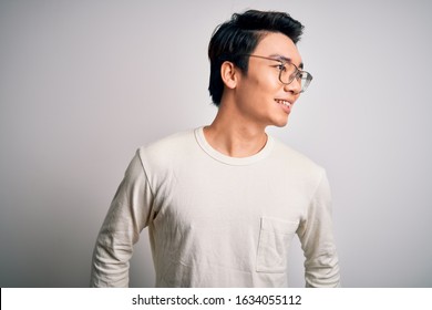
<svg viewBox="0 0 432 310"><path fill-rule="evenodd" d="M313 81L269 133L325 166L343 287L432 287L430 1L0 0L0 286L88 287L136 148L212 122L207 44L246 9L300 20ZM147 230L131 286L152 287ZM289 281L302 287L299 242Z"/></svg>

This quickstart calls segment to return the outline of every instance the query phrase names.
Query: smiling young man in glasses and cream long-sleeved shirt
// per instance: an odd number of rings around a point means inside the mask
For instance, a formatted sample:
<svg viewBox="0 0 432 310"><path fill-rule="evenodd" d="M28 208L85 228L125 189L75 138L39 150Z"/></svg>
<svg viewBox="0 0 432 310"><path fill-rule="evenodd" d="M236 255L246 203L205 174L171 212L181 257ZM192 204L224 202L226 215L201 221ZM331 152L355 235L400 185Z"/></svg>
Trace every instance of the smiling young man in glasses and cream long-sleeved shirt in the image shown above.
<svg viewBox="0 0 432 310"><path fill-rule="evenodd" d="M288 14L255 10L217 28L208 48L217 115L136 152L97 238L92 286L127 286L145 227L156 287L286 287L295 234L306 286L339 286L326 173L265 132L287 124L312 79L301 33Z"/></svg>

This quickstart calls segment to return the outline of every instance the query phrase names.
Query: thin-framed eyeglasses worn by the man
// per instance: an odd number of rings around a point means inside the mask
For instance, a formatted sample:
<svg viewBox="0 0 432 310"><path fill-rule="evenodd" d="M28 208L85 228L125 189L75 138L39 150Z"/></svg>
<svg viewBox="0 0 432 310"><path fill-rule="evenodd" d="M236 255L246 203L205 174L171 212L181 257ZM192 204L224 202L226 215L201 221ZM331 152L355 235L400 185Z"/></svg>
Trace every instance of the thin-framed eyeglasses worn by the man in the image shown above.
<svg viewBox="0 0 432 310"><path fill-rule="evenodd" d="M279 81L285 85L288 85L294 80L297 80L301 85L300 93L304 93L309 86L310 81L312 81L312 75L309 72L298 69L297 65L295 65L290 61L284 59L274 59L274 58L253 55L253 54L246 54L246 56L259 58L259 59L266 59L266 60L272 60L279 62L279 64L277 65L277 69L279 70Z"/></svg>

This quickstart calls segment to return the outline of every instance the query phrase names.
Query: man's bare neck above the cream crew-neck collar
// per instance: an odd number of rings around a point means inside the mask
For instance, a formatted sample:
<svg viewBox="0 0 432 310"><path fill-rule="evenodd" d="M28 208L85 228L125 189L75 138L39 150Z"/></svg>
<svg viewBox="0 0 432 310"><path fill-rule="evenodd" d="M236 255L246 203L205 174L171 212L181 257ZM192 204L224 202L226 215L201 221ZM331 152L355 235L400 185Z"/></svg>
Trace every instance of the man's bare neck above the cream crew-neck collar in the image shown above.
<svg viewBox="0 0 432 310"><path fill-rule="evenodd" d="M232 112L219 107L212 125L204 135L213 148L230 157L248 157L257 154L267 143L265 126L249 124Z"/></svg>

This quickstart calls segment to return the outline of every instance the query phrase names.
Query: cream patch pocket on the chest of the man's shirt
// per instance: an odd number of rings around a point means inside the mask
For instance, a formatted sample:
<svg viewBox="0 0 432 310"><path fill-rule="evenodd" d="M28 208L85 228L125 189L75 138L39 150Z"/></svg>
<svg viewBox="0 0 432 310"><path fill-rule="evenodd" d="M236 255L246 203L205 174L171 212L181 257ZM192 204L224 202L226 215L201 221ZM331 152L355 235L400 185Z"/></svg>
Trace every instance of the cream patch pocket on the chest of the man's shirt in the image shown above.
<svg viewBox="0 0 432 310"><path fill-rule="evenodd" d="M256 270L258 272L285 272L288 250L298 223L261 217Z"/></svg>

